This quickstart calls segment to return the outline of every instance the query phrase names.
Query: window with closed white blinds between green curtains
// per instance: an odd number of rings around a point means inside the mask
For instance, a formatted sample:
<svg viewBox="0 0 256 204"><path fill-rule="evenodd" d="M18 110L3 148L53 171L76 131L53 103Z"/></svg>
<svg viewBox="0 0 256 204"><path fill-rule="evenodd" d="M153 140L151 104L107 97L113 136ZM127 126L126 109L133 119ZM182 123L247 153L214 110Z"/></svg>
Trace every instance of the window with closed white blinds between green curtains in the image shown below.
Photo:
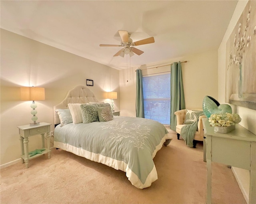
<svg viewBox="0 0 256 204"><path fill-rule="evenodd" d="M144 115L147 119L152 119L170 125L171 109L171 75L142 77Z"/></svg>

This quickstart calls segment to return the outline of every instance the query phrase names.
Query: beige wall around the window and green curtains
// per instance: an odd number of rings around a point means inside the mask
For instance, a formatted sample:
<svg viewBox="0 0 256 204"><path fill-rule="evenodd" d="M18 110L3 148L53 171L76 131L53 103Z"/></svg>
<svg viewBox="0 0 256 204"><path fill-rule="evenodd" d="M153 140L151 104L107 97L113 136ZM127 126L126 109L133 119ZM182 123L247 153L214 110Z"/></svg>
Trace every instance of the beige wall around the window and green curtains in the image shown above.
<svg viewBox="0 0 256 204"><path fill-rule="evenodd" d="M218 52L217 50L207 51L194 55L188 55L172 59L163 65L174 61L188 61L182 63L182 77L186 108L202 109L204 96L218 97ZM156 67L159 65L153 65ZM145 69L145 65L140 69ZM150 66L148 67L150 68ZM136 70L120 71L120 114L122 116L136 116ZM170 70L170 66L168 67ZM154 71L166 71L166 67L159 67ZM153 73L152 69L142 71L142 74ZM128 75L128 77L127 77ZM128 82L127 82L128 78Z"/></svg>

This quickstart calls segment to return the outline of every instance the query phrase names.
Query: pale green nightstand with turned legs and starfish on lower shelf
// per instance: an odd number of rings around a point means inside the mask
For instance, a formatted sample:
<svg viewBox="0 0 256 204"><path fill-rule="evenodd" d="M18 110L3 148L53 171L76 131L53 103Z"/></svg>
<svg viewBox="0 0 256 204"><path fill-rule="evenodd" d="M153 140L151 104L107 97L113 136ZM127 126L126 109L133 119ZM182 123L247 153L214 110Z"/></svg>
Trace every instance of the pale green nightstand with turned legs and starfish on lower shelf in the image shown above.
<svg viewBox="0 0 256 204"><path fill-rule="evenodd" d="M40 123L39 125L22 125L18 126L19 134L20 134L20 147L21 147L21 158L22 163L26 164L26 168L28 168L28 161L32 158L36 158L38 156L42 156L48 153L48 158L50 159L50 126L52 124L49 123ZM42 149L44 149L44 135L46 134L47 139L47 149L41 151L40 154L35 154L34 156L29 156L28 154L28 137L34 135L41 135L42 137ZM25 150L25 153L24 153Z"/></svg>

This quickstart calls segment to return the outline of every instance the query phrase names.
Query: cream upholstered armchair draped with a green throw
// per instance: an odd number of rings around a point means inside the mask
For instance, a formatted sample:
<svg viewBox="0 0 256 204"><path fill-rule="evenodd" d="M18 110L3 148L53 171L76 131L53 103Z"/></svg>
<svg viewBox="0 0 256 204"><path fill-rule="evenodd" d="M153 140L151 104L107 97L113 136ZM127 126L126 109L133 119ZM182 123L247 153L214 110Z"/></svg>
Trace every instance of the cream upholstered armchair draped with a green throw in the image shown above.
<svg viewBox="0 0 256 204"><path fill-rule="evenodd" d="M198 109L193 109L193 110L198 110ZM202 110L198 110L202 111ZM184 121L186 117L186 109L182 109L180 111L174 112L174 115L177 117L177 125L176 125L176 133L177 133L177 138L178 140L180 139L180 130L184 126ZM203 123L202 123L202 118L206 117L205 115L201 115L198 118L198 127L197 131L194 136L193 140L193 147L196 148L196 143L197 141L204 141L204 129L203 129Z"/></svg>

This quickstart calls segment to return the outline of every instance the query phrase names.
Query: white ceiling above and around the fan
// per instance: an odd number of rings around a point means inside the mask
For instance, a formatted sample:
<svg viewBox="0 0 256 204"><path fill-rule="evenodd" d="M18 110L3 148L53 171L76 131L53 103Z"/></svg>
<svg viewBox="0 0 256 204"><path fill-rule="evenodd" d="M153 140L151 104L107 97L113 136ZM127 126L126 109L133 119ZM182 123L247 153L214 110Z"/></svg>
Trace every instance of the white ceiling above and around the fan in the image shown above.
<svg viewBox="0 0 256 204"><path fill-rule="evenodd" d="M185 55L218 49L237 0L168 1L12 1L1 0L0 27L91 59L126 69L126 55L113 57L120 47L118 30L133 42L154 37L155 43L136 46L131 66L158 65ZM128 65L129 65L128 56Z"/></svg>

